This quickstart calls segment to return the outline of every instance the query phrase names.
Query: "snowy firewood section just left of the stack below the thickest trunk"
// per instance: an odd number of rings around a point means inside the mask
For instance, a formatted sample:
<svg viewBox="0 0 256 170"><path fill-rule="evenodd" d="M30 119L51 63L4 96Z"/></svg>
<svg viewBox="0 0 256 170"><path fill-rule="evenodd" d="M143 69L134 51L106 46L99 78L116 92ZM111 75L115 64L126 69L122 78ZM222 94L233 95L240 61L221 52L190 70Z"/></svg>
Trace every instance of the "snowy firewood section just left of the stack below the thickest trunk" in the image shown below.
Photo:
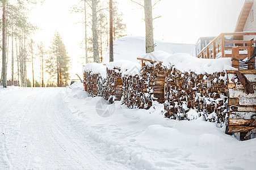
<svg viewBox="0 0 256 170"><path fill-rule="evenodd" d="M137 72L139 68L133 67ZM152 106L152 97L149 94L148 84L146 78L140 75L123 74L123 100L122 102L128 108L149 109Z"/></svg>

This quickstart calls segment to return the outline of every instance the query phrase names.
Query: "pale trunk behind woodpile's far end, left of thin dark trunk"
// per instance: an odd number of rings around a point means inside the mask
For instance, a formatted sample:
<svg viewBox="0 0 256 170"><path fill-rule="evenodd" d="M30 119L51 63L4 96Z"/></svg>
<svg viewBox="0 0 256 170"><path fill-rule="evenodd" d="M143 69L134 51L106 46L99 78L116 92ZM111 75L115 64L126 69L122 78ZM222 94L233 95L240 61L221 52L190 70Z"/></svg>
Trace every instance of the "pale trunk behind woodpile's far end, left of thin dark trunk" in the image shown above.
<svg viewBox="0 0 256 170"><path fill-rule="evenodd" d="M91 7L93 11L93 58L94 62L99 63L99 43L97 30L97 0L92 0Z"/></svg>

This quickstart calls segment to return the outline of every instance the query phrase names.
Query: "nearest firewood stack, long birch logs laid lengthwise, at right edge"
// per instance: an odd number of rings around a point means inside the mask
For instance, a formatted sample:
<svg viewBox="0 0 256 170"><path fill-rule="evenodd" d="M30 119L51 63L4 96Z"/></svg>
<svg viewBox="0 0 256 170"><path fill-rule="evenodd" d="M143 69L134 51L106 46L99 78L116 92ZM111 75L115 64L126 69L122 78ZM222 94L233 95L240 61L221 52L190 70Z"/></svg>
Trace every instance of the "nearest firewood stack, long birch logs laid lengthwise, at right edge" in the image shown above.
<svg viewBox="0 0 256 170"><path fill-rule="evenodd" d="M226 133L256 138L256 70L228 70L229 121Z"/></svg>

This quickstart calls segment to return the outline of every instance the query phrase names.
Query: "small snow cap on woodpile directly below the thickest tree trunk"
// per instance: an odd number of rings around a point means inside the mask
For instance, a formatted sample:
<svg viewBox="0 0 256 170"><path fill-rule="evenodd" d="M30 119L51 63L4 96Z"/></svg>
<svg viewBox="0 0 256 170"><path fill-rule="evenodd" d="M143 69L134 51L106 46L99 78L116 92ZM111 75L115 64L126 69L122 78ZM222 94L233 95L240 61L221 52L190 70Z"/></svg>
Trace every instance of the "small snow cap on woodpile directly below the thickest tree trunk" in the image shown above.
<svg viewBox="0 0 256 170"><path fill-rule="evenodd" d="M154 51L152 53L143 54L139 58L149 59L151 61L155 61L155 62L159 63L159 62L162 62L164 59L166 59L169 56L170 56L169 53L158 50L158 51Z"/></svg>

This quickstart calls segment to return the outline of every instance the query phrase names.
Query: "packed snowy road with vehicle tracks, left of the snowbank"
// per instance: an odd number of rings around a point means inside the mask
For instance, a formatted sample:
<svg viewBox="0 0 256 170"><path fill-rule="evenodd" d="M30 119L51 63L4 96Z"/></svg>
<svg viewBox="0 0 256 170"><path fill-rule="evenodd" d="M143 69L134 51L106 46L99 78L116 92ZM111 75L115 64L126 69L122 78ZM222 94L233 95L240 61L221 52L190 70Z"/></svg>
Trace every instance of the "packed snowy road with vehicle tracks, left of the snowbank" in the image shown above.
<svg viewBox="0 0 256 170"><path fill-rule="evenodd" d="M75 133L64 88L14 88L0 93L0 169L113 169L89 134ZM85 126L80 122L76 126ZM121 165L118 165L120 167Z"/></svg>

